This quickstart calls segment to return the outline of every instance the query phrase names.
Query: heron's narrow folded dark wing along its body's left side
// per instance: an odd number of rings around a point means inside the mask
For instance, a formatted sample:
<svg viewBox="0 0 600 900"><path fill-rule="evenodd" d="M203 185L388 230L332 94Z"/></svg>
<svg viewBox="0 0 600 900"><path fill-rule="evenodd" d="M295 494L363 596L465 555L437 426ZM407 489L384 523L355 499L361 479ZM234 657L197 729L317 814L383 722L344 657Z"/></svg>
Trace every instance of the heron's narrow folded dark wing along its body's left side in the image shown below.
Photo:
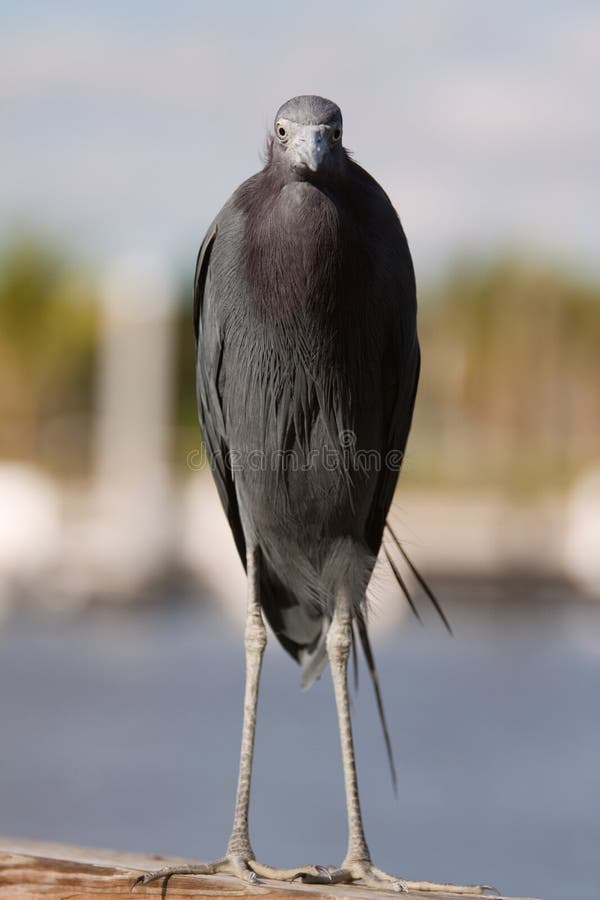
<svg viewBox="0 0 600 900"><path fill-rule="evenodd" d="M194 333L196 335L196 398L202 438L223 509L244 567L246 541L231 469L229 445L219 386L223 359L223 333L219 327L211 255L217 240L219 219L212 223L198 253L194 278Z"/></svg>

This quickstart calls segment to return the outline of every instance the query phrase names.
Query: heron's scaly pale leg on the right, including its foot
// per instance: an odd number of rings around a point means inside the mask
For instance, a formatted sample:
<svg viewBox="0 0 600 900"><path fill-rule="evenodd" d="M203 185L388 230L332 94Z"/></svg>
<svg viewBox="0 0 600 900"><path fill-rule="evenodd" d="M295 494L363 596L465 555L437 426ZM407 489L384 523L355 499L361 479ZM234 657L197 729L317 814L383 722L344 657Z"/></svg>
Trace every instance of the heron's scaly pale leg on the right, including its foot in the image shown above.
<svg viewBox="0 0 600 900"><path fill-rule="evenodd" d="M336 603L331 626L327 634L327 654L331 667L331 677L335 691L340 742L342 745L342 762L344 766L344 785L346 789L346 808L348 815L348 850L341 867L329 871L332 882L347 883L360 881L369 887L379 890L393 891L445 891L454 894L484 894L488 890L484 885L436 884L429 881L405 881L395 875L376 868L371 861L362 823L360 800L358 796L358 779L354 755L354 740L350 719L350 702L348 697L348 656L352 643L352 610L349 598L341 594ZM493 889L491 889L493 890Z"/></svg>

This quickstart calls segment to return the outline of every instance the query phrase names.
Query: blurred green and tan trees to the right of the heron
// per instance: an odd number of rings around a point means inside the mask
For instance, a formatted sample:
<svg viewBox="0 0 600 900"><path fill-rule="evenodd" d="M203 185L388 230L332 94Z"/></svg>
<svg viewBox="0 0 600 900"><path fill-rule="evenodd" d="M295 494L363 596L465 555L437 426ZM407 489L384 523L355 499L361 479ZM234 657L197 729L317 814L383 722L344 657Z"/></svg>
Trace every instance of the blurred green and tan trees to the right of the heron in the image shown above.
<svg viewBox="0 0 600 900"><path fill-rule="evenodd" d="M522 492L597 460L597 285L514 260L465 265L425 298L420 332L417 480Z"/></svg>

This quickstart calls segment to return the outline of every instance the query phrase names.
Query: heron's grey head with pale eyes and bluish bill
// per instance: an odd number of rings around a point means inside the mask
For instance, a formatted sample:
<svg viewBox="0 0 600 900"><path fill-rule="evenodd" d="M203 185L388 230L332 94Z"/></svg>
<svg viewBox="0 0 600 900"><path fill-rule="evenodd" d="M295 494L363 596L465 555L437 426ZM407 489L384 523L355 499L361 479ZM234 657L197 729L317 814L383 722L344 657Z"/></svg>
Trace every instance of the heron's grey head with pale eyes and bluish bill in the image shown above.
<svg viewBox="0 0 600 900"><path fill-rule="evenodd" d="M275 116L273 162L295 177L343 165L342 113L333 101L303 95L284 103Z"/></svg>

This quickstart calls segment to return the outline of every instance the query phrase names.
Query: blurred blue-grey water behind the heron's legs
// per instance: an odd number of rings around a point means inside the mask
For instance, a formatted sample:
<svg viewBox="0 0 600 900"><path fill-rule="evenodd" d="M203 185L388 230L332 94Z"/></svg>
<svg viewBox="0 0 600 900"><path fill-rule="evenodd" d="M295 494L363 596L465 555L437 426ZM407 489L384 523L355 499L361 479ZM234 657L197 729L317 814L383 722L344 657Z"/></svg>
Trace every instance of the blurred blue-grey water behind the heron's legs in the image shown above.
<svg viewBox="0 0 600 900"><path fill-rule="evenodd" d="M408 878L600 897L600 626L593 608L455 612L376 642L398 766L354 699L367 837ZM458 622L456 619L458 618ZM237 772L243 648L189 607L0 630L0 832L209 859ZM257 856L339 863L343 783L329 676L308 692L269 644L251 814Z"/></svg>

